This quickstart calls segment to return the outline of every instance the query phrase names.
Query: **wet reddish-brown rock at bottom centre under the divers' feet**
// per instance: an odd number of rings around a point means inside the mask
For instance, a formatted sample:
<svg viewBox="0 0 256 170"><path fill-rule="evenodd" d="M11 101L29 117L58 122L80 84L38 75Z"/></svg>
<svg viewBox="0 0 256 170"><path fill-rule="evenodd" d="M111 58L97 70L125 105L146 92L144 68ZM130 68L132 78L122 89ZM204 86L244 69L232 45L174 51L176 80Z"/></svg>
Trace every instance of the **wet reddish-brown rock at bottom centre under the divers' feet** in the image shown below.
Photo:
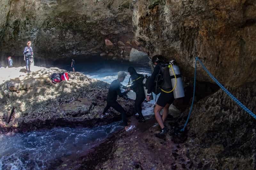
<svg viewBox="0 0 256 170"><path fill-rule="evenodd" d="M176 167L180 169L191 166L186 156L182 155L183 144L173 143L170 135L166 135L164 139L155 136L160 129L158 125L156 126L154 116L148 117L144 123L138 123L138 120L132 117L131 125L135 125L136 128L130 132L117 132L86 156L76 159L75 162L68 160L67 167L74 169L173 169ZM167 127L170 128L170 126Z"/></svg>

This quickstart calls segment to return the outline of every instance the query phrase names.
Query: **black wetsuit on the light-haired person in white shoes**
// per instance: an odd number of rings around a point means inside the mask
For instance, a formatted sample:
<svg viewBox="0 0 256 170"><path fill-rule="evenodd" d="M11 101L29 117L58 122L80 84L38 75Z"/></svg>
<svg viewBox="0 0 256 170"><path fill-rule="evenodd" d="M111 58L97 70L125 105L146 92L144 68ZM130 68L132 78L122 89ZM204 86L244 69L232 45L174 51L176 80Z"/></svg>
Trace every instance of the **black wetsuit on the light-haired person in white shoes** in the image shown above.
<svg viewBox="0 0 256 170"><path fill-rule="evenodd" d="M124 111L124 108L116 101L117 95L119 97L123 97L126 93L128 93L128 91L121 93L121 86L122 84L117 79L110 84L108 89L107 106L105 107L103 114L105 114L110 107L113 107L117 112L122 114L124 126L128 126L126 120L126 112Z"/></svg>

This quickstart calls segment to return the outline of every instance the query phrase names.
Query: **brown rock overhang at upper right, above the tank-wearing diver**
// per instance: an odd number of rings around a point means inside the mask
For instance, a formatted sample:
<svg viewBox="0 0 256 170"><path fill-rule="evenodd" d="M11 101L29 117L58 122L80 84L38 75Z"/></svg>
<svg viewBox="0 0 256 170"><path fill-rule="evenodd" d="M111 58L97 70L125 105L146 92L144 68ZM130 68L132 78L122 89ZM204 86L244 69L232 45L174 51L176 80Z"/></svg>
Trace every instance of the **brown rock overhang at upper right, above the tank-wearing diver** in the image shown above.
<svg viewBox="0 0 256 170"><path fill-rule="evenodd" d="M175 58L193 75L195 52L226 86L256 80L256 1L137 1L133 30L150 56ZM211 81L199 67L199 81Z"/></svg>

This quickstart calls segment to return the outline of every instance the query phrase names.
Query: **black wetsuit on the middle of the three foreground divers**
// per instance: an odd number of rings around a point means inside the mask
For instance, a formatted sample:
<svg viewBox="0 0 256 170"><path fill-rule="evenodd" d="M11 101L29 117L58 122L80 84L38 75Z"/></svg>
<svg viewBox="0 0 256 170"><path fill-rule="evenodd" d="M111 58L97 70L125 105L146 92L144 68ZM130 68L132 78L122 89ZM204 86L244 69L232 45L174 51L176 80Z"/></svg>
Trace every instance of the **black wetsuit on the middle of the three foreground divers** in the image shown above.
<svg viewBox="0 0 256 170"><path fill-rule="evenodd" d="M142 74L135 73L131 75L131 80L133 82L130 88L133 89L133 91L135 91L136 93L135 109L138 112L140 118L143 118L141 104L146 98L144 93L144 88L143 88L143 82L142 82L143 79L144 79L144 76Z"/></svg>

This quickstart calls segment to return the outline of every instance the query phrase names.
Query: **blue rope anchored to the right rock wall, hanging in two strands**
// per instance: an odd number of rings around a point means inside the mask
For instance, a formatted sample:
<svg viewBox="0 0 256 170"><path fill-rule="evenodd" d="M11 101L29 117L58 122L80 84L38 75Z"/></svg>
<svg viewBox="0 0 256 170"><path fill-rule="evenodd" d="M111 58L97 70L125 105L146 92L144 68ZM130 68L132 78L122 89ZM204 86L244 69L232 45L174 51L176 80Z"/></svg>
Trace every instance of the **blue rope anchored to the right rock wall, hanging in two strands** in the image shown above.
<svg viewBox="0 0 256 170"><path fill-rule="evenodd" d="M204 66L204 64L202 63L202 61L198 57L196 57L196 61L197 60L200 62L200 64L203 66L204 70L208 73L208 75L212 78L212 80L215 81L218 84L218 86L220 86L220 88L225 93L227 93L229 97L231 97L232 100L234 100L242 109L244 109L245 112L249 113L256 120L256 115L254 113L252 113L252 111L249 110L244 104L242 104L235 96L233 96L224 86L222 86L220 84L220 82L207 70L207 68ZM194 78L194 94L193 94L193 101L192 101L191 108L193 107L193 103L194 103L195 86L196 86L195 83L196 83L196 66L195 66L195 78ZM190 108L190 112L188 114L188 119L189 119L190 114L191 114L191 110L192 110L191 108ZM187 119L187 121L186 121L186 123L184 125L184 128L181 129L180 131L184 131L185 127L187 126L188 119Z"/></svg>

